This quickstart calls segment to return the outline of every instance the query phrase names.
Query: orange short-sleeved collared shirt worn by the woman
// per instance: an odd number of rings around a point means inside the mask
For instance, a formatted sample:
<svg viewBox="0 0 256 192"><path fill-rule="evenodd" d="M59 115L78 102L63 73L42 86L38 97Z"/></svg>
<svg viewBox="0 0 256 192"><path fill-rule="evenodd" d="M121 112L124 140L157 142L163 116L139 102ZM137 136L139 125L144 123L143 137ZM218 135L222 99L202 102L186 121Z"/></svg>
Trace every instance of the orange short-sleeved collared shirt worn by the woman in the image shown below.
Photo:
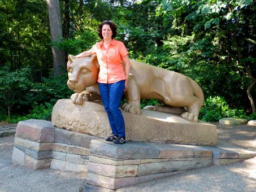
<svg viewBox="0 0 256 192"><path fill-rule="evenodd" d="M96 54L99 62L98 82L112 84L126 80L122 58L128 51L121 41L112 40L108 49L103 46L103 41L97 42L92 47L92 54Z"/></svg>

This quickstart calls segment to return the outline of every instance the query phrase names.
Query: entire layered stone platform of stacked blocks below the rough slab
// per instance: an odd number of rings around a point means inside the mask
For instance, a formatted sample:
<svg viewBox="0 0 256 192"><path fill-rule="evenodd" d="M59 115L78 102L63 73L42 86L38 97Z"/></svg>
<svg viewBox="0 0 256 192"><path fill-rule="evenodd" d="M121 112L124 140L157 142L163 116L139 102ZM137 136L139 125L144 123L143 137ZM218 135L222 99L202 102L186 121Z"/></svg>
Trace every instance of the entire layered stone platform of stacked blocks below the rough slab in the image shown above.
<svg viewBox="0 0 256 192"><path fill-rule="evenodd" d="M86 172L85 182L109 189L256 156L256 152L225 142L217 142L215 147L138 141L116 145L44 120L20 121L14 143L15 164Z"/></svg>

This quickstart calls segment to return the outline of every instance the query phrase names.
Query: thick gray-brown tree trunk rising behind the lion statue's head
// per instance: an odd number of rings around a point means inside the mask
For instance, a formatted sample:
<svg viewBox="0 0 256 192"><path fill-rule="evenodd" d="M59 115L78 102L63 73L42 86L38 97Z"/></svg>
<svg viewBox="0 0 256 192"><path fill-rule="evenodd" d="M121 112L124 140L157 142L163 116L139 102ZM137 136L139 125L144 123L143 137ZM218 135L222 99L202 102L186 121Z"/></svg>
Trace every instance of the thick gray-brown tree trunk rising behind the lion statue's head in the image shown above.
<svg viewBox="0 0 256 192"><path fill-rule="evenodd" d="M51 42L60 42L62 39L62 23L60 18L60 7L59 0L46 0L49 23L51 31ZM65 64L65 53L63 50L58 50L56 46L52 46L53 50L53 68L54 75L62 75L64 72Z"/></svg>

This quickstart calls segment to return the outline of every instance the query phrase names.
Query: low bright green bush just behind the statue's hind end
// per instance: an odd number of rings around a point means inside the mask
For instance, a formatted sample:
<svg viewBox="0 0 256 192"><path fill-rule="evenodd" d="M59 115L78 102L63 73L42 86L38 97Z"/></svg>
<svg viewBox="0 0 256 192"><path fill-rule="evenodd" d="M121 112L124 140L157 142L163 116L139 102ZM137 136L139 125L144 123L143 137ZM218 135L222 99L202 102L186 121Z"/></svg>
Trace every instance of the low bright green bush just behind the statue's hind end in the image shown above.
<svg viewBox="0 0 256 192"><path fill-rule="evenodd" d="M223 117L246 119L246 113L238 108L231 109L223 97L207 98L200 110L199 119L203 121L218 121Z"/></svg>

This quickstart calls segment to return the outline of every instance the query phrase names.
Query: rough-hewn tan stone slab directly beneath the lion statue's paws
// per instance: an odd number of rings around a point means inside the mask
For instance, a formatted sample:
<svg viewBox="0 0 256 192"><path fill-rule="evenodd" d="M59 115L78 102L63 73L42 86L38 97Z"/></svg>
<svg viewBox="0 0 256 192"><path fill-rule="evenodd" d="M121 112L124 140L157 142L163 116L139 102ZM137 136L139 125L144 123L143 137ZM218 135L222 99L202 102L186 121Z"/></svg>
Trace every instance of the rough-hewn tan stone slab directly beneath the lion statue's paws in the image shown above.
<svg viewBox="0 0 256 192"><path fill-rule="evenodd" d="M215 125L203 121L190 122L164 112L141 112L141 115L134 115L122 110L128 140L210 146L216 143ZM77 105L70 99L61 99L53 108L51 120L54 126L74 132L98 137L111 134L107 114L100 102L84 102L83 105Z"/></svg>

